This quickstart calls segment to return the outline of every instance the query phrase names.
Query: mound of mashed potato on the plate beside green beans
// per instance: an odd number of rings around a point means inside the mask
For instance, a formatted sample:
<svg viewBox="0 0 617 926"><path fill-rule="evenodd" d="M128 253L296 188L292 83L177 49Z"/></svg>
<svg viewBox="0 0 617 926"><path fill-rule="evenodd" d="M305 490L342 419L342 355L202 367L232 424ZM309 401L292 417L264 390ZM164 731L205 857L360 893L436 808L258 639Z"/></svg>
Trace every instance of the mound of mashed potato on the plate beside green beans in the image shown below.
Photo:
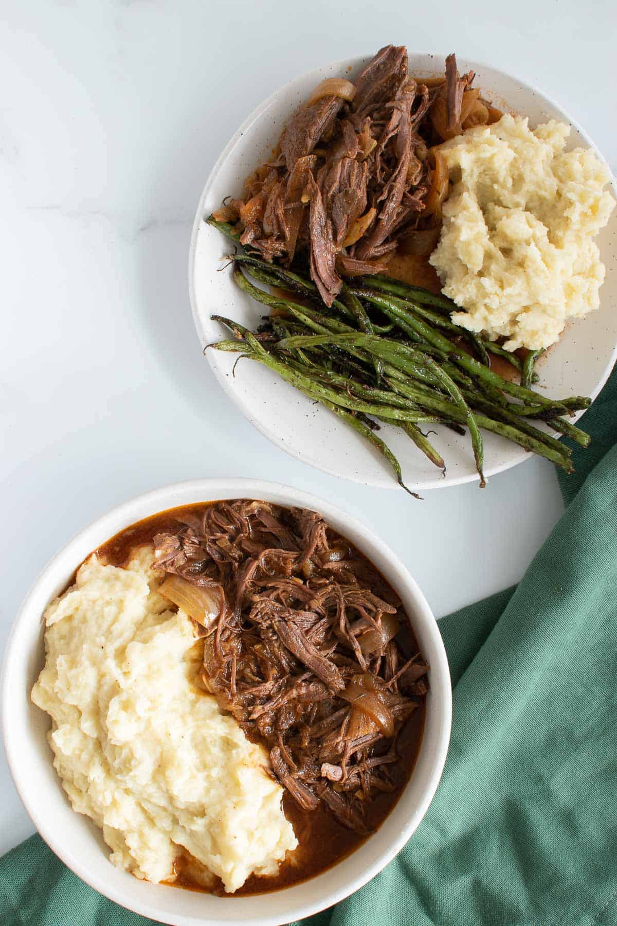
<svg viewBox="0 0 617 926"><path fill-rule="evenodd" d="M593 236L614 200L609 169L593 151L565 153L570 127L534 131L503 116L441 145L453 186L430 263L443 292L466 309L452 319L509 340L508 350L549 347L567 319L598 308L604 279Z"/></svg>

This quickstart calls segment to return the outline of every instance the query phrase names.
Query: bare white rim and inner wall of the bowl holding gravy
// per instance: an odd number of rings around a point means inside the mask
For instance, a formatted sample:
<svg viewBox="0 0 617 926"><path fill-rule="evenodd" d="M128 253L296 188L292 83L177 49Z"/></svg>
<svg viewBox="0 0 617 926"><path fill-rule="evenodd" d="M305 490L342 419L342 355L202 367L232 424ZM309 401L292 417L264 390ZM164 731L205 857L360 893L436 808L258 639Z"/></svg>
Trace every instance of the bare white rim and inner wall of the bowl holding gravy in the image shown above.
<svg viewBox="0 0 617 926"><path fill-rule="evenodd" d="M43 668L43 621L47 604L62 592L75 569L97 546L142 518L170 507L222 498L258 498L319 511L381 570L401 596L421 652L430 664L426 724L412 777L379 830L333 868L294 887L250 897L216 897L163 884L150 884L109 861L101 832L68 803L47 745L49 718L31 703L33 683ZM388 864L412 836L438 786L450 740L450 671L438 625L426 599L387 544L359 521L313 495L277 482L204 479L179 482L139 495L75 537L32 586L9 637L2 679L2 728L6 757L37 830L56 855L101 894L153 920L197 923L275 924L301 920L352 894Z"/></svg>

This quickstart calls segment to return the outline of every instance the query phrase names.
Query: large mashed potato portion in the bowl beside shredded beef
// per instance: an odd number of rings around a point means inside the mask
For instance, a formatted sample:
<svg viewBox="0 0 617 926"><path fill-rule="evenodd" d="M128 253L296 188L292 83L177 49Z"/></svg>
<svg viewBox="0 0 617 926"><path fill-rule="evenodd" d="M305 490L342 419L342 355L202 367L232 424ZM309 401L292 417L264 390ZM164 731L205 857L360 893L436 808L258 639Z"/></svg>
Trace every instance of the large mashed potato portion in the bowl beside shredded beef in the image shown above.
<svg viewBox="0 0 617 926"><path fill-rule="evenodd" d="M143 548L128 569L81 566L45 613L32 700L52 716L72 806L103 829L116 865L163 881L184 847L235 891L275 874L297 840L265 750L191 685L191 621L155 591L152 561Z"/></svg>

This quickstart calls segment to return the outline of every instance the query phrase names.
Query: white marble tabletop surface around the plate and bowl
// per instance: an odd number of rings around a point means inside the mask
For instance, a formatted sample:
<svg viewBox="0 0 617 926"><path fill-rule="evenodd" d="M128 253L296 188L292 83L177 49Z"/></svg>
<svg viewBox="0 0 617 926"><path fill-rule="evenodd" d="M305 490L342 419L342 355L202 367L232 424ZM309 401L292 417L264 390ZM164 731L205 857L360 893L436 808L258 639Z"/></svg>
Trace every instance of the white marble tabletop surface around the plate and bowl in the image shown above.
<svg viewBox="0 0 617 926"><path fill-rule="evenodd" d="M517 582L561 514L552 467L530 459L486 492L414 503L280 454L201 356L191 220L253 106L292 74L389 41L455 49L537 83L614 169L609 0L479 0L464 12L394 0L384 25L376 6L350 0L2 6L0 647L73 533L133 494L197 476L272 478L336 501L389 541L438 616ZM4 759L0 794L2 852L32 832Z"/></svg>

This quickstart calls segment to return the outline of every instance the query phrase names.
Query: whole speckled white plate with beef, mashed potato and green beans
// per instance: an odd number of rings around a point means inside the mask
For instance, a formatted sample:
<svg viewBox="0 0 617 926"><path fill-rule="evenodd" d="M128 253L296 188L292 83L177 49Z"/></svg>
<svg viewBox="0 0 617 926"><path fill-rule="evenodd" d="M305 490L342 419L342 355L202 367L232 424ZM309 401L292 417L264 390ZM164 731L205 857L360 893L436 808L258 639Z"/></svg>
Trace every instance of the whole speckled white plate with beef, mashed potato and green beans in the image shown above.
<svg viewBox="0 0 617 926"><path fill-rule="evenodd" d="M388 45L290 81L197 209L191 304L216 379L281 449L408 491L566 435L617 345L614 182L557 103ZM600 298L601 297L601 298Z"/></svg>

